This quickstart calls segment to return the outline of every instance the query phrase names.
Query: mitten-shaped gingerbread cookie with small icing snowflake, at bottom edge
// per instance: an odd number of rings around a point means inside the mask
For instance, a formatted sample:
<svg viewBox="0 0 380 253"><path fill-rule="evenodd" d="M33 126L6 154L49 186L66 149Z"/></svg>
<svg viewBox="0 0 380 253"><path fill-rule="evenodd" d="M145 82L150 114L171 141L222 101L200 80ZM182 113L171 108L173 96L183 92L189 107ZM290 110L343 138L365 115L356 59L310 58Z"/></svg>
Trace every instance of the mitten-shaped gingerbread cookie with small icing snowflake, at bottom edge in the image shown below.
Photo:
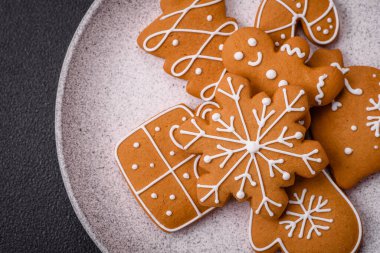
<svg viewBox="0 0 380 253"><path fill-rule="evenodd" d="M279 220L251 210L250 239L255 252L356 252L362 238L360 217L329 175L297 178L286 189L289 203Z"/></svg>

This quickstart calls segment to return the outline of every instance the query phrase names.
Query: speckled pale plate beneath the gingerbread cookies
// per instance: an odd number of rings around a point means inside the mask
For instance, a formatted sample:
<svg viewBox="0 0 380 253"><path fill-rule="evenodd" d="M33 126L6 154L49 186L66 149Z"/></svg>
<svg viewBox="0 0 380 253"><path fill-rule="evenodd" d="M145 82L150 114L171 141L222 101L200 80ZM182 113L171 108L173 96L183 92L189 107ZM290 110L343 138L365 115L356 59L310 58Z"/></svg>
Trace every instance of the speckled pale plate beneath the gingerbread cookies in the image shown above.
<svg viewBox="0 0 380 253"><path fill-rule="evenodd" d="M379 67L378 0L336 0L347 65ZM240 24L253 24L259 1L229 0ZM247 11L248 10L248 11ZM177 233L159 230L129 191L114 160L116 143L150 116L197 100L185 83L140 50L138 32L160 13L159 0L95 1L63 65L56 107L58 157L67 193L103 252L250 252L249 207L230 203ZM362 215L362 252L380 248L380 175L349 192ZM233 231L233 233L231 233Z"/></svg>

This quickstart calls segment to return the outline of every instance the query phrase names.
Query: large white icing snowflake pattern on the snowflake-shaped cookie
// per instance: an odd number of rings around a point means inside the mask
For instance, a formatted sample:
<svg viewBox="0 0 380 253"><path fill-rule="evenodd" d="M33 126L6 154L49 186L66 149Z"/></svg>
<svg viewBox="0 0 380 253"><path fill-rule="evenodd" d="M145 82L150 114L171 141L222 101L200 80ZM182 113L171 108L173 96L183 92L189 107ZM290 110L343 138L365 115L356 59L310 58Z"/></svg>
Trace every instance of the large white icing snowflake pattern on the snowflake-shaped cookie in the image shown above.
<svg viewBox="0 0 380 253"><path fill-rule="evenodd" d="M294 157L294 158L299 158L302 159L304 165L309 169L309 173L311 175L315 174L314 169L311 167L310 162L315 162L315 163L321 163L322 160L321 158L316 158L313 157L315 154L319 152L318 149L314 149L308 153L303 153L303 154L296 154L292 153L290 151L285 151L283 150L280 146L277 148L272 147L272 144L281 144L286 146L286 150L288 148L294 147L294 144L290 142L291 140L300 140L303 138L303 133L301 132L296 132L294 134L288 135L288 127L284 126L282 129L282 132L279 133L279 136L274 139L274 140L265 140L263 139L267 136L267 134L277 125L277 123L288 113L291 112L301 112L305 111L305 107L295 107L295 104L300 100L301 97L305 96L305 91L300 90L298 95L289 101L288 95L287 95L287 90L285 88L282 89L282 93L284 96L284 103L285 103L285 108L281 112L277 112L277 115L275 118L271 118L276 112L275 110L270 110L269 112L267 111L268 105L271 104L270 99L263 99L262 100L262 112L261 116L259 116L259 112L256 109L253 109L253 116L256 120L256 123L258 125L257 128L257 134L256 134L256 139L251 140L251 137L248 133L248 128L246 125L246 122L244 120L244 115L242 113L241 107L240 107L240 93L244 89L244 85L240 85L239 88L235 90L233 84L232 84L232 78L228 77L227 82L229 85L230 90L222 90L221 88L218 89L217 92L219 92L221 95L226 96L228 99L231 99L234 101L235 107L236 107L236 115L231 115L226 122L225 119L223 119L222 115L220 113L214 113L212 115L212 120L214 122L217 122L220 124L220 127L217 127L216 123L213 123L213 126L215 126L216 132L220 133L231 133L231 136L234 137L223 137L223 136L218 136L215 134L209 134L207 133L204 129L202 129L195 118L191 119L192 126L194 127L194 130L180 130L180 134L186 135L186 136L193 136L193 138L182 148L184 150L187 150L190 146L192 146L195 142L197 142L200 138L206 138L206 139L211 139L211 140L220 140L223 141L224 143L234 143L234 144L239 144L240 147L237 147L236 145L234 148L229 149L227 147L224 147L223 145L217 144L216 148L220 151L220 153L213 154L213 155L208 155L208 154L203 154L203 160L207 162L213 162L217 158L224 157L224 160L219 163L219 167L224 169L226 171L226 174L224 175L223 178L220 179L219 182L211 185L205 185L205 184L198 184L197 187L201 189L209 189L206 194L203 196L199 196L199 201L201 203L205 202L208 200L211 196L214 195L214 202L217 204L219 203L219 187L227 180L227 178L230 177L230 175L235 171L235 169L245 160L245 158L249 158L249 161L247 163L245 172L236 175L234 179L236 181L241 181L241 186L240 189L236 192L236 197L243 197L245 196L244 192L244 187L246 186L246 183L250 185L251 187L256 187L259 186L262 194L262 200L261 203L258 205L258 208L256 209L256 213L259 214L263 208L268 212L270 216L273 216L273 212L270 208L270 205L274 205L277 207L281 207L280 203L275 202L272 200L268 195L265 190L264 186L264 180L262 178L262 172L261 168L258 164L258 157L260 159L263 159L267 162L269 169L269 175L270 177L275 177L277 173L281 175L281 178L283 180L289 180L290 179L290 174L283 169L281 169L281 164L285 163L286 157ZM268 109L269 110L269 109ZM235 128L235 122L239 121L240 125L242 125L243 133L238 133L237 129ZM269 123L269 122L271 123ZM177 126L173 126L173 129L177 129ZM244 136L244 138L243 138ZM177 141L173 138L174 135L170 135L170 138L172 138L172 141L174 143L177 143ZM262 152L261 150L265 150L266 152ZM270 158L267 158L267 153L273 152L274 154L277 155L284 155L284 159L277 159L277 160L271 160ZM229 168L224 168L227 163L230 161L232 157L235 157L235 155L240 154L240 158L237 159L236 162L234 162L234 165L228 165ZM198 161L199 158L197 158ZM196 167L196 163L194 163L194 168ZM251 170L252 172L256 172L255 178L258 178L258 182L255 182L252 178L251 175ZM196 173L196 171L195 171ZM244 194L243 194L244 193ZM243 197L244 198L244 197Z"/></svg>

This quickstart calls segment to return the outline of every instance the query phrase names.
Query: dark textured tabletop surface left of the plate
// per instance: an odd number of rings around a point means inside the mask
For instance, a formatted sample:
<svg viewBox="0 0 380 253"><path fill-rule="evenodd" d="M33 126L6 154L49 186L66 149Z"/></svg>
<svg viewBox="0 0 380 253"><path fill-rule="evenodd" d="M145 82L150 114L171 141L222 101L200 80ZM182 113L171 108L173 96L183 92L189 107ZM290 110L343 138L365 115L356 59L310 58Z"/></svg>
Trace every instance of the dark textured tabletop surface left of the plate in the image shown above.
<svg viewBox="0 0 380 253"><path fill-rule="evenodd" d="M0 252L96 252L55 148L62 62L91 0L0 1Z"/></svg>

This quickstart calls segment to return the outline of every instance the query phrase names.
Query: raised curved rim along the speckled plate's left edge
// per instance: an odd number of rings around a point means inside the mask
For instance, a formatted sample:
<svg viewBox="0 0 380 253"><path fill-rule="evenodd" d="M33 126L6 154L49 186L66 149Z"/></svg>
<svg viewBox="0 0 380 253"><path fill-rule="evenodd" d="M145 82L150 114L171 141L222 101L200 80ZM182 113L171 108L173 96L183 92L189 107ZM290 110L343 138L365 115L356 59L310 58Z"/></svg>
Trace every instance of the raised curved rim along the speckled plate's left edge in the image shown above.
<svg viewBox="0 0 380 253"><path fill-rule="evenodd" d="M63 154L63 141L62 141L62 105L63 105L63 97L65 95L65 86L67 81L68 72L70 70L70 65L73 59L74 54L76 53L76 48L79 44L80 39L82 38L84 32L87 30L89 24L91 23L93 17L99 10L100 6L104 0L95 0L91 6L86 11L82 20L80 21L75 33L71 39L69 47L67 48L66 55L61 67L61 72L59 75L56 101L55 101L55 144L57 150L58 164L59 170L61 172L62 181L66 190L66 193L69 197L70 203L74 212L79 219L82 227L85 229L86 233L89 235L91 240L95 243L98 249L101 252L108 252L108 249L103 245L103 243L98 239L96 234L92 231L91 225L88 222L85 214L79 207L78 200L76 199L74 192L71 187L71 182L69 175L66 170L65 157Z"/></svg>

